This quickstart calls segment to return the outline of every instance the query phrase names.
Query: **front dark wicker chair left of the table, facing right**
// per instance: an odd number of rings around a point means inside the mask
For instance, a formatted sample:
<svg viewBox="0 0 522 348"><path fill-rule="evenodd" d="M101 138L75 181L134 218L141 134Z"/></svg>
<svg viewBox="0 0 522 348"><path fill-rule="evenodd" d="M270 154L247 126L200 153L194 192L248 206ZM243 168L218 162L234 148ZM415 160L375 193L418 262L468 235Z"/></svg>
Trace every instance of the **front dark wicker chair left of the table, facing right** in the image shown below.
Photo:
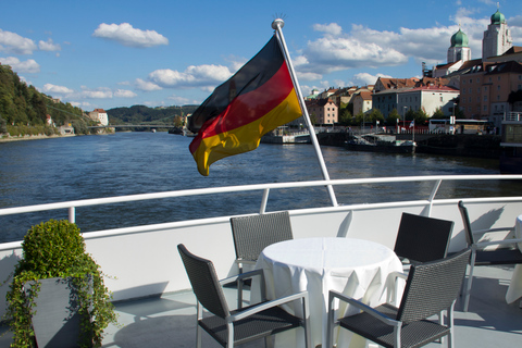
<svg viewBox="0 0 522 348"><path fill-rule="evenodd" d="M190 253L184 245L177 249L182 256L185 270L197 298L197 347L201 347L201 330L210 334L221 346L234 347L259 338L297 327L303 327L307 347L311 347L309 325L308 293L290 295L273 301L263 300L261 303L229 310L223 294L222 285L241 282L252 276L261 276L261 295L264 298L264 277L262 270L244 273L234 277L217 281L214 265L211 261ZM302 306L303 318L291 315L279 306L291 301L299 301ZM213 315L203 318L203 308Z"/></svg>

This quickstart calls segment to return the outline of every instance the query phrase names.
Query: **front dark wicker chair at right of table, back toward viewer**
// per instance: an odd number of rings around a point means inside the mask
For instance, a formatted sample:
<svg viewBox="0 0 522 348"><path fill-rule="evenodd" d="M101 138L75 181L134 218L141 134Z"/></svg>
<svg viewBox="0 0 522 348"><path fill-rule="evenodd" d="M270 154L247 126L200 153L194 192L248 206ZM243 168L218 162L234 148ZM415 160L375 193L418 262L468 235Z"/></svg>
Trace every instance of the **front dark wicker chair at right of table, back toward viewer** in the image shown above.
<svg viewBox="0 0 522 348"><path fill-rule="evenodd" d="M471 250L446 259L412 264L399 308L384 303L375 309L343 294L330 291L327 345L339 325L384 347L421 347L448 336L453 345L453 306L462 285ZM400 273L397 273L399 276ZM335 320L334 300L348 302L362 312ZM428 320L446 310L448 323Z"/></svg>

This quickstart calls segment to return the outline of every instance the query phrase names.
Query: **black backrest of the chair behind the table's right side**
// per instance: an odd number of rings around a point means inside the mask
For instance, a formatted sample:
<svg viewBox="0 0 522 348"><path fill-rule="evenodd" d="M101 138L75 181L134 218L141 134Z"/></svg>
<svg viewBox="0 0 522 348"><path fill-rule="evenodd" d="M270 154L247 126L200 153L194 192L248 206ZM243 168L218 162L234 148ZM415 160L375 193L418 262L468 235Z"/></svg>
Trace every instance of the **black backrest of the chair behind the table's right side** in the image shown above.
<svg viewBox="0 0 522 348"><path fill-rule="evenodd" d="M402 213L394 251L399 258L428 262L446 257L453 222Z"/></svg>

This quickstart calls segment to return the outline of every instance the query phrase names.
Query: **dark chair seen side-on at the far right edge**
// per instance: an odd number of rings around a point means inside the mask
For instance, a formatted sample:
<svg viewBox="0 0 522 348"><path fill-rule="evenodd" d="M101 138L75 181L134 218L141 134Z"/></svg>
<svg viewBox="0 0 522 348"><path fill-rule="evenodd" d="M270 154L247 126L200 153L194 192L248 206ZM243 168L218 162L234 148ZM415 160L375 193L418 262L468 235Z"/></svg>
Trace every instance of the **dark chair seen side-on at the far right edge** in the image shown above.
<svg viewBox="0 0 522 348"><path fill-rule="evenodd" d="M493 264L518 264L522 263L522 252L517 248L517 243L522 243L522 239L504 239L504 240L488 240L484 243L476 243L474 234L484 234L488 232L513 231L514 227L499 227L481 229L473 232L471 229L470 216L468 209L462 201L459 201L459 211L462 215L462 223L464 225L465 240L471 247L470 272L468 279L463 287L463 311L467 312L470 304L471 284L473 282L473 269L475 265L493 265ZM483 250L488 246L501 246L493 250Z"/></svg>

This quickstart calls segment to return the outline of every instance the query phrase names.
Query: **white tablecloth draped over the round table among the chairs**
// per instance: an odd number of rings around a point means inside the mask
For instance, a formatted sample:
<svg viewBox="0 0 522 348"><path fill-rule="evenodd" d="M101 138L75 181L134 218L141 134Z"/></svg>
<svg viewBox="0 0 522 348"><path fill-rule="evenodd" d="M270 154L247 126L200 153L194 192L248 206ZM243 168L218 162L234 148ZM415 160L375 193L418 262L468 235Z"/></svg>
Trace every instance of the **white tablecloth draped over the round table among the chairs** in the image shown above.
<svg viewBox="0 0 522 348"><path fill-rule="evenodd" d="M258 259L257 269L263 269L269 299L308 290L312 344L325 345L328 291L337 290L370 306L384 301L382 297L386 277L402 271L402 264L389 248L369 240L351 238L304 238L266 247ZM298 308L288 308L300 314ZM338 316L356 313L343 304ZM338 348L356 347L364 340L350 339L346 330L336 333ZM277 347L303 347L303 335L289 331L276 335ZM357 338L356 338L357 337Z"/></svg>

